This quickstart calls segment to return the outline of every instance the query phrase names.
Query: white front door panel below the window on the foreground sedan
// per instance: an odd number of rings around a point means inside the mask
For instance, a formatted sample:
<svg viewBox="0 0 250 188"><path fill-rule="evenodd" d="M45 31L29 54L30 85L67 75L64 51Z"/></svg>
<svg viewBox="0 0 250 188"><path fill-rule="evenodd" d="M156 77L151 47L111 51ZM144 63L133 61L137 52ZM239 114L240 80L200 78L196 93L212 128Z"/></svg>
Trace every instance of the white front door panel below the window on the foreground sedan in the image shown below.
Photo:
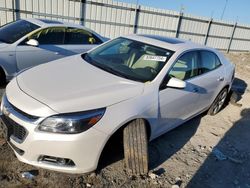
<svg viewBox="0 0 250 188"><path fill-rule="evenodd" d="M173 129L199 112L197 101L202 90L192 81L185 89L166 88L159 93L159 133Z"/></svg>

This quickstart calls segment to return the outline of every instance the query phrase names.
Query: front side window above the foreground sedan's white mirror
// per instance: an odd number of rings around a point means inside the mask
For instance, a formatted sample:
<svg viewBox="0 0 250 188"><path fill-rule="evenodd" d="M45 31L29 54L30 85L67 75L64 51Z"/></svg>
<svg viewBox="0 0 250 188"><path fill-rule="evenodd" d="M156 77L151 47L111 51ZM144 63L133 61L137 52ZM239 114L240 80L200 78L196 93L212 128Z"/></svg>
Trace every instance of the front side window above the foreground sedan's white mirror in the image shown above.
<svg viewBox="0 0 250 188"><path fill-rule="evenodd" d="M187 80L199 74L199 56L197 52L187 52L182 55L169 72L169 77Z"/></svg>

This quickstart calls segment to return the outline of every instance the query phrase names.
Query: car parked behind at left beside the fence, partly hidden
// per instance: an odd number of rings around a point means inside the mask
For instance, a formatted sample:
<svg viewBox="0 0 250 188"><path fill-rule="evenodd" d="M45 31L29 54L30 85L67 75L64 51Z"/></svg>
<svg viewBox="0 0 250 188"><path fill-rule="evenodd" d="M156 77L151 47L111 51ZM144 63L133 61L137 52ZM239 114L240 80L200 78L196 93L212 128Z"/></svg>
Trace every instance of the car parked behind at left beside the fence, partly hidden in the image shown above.
<svg viewBox="0 0 250 188"><path fill-rule="evenodd" d="M70 55L106 41L83 26L44 19L24 19L0 28L0 83L17 72Z"/></svg>

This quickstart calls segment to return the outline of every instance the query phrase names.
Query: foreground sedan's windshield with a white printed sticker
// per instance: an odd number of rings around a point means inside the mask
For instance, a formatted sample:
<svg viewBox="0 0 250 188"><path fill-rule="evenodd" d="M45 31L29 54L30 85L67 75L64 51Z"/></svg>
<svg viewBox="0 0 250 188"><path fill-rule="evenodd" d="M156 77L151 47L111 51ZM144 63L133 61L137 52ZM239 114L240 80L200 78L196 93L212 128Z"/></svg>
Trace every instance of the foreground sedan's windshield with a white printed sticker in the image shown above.
<svg viewBox="0 0 250 188"><path fill-rule="evenodd" d="M152 81L173 51L142 42L117 38L82 55L87 62L130 80Z"/></svg>

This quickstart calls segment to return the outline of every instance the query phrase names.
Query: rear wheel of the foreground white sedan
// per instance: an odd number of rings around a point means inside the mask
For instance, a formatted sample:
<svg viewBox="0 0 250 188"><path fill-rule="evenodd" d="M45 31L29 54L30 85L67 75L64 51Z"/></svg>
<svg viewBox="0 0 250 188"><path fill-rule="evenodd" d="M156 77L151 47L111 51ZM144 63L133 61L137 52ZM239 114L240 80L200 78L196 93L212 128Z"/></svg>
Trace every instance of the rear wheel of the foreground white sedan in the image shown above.
<svg viewBox="0 0 250 188"><path fill-rule="evenodd" d="M213 104L211 105L211 107L208 110L208 115L214 116L215 114L217 114L223 107L226 98L227 98L227 88L224 88L216 97L216 99L214 100Z"/></svg>

